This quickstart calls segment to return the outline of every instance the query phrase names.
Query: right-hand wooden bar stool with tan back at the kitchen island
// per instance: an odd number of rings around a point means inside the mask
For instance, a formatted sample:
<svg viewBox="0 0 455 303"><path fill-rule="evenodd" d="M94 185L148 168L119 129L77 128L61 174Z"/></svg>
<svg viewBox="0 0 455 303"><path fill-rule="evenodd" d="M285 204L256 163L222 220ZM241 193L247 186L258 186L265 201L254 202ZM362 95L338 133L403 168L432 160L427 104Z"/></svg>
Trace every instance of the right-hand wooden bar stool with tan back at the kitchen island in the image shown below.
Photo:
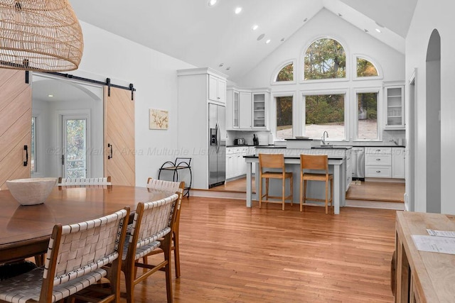
<svg viewBox="0 0 455 303"><path fill-rule="evenodd" d="M323 172L305 172L305 170L321 170ZM323 181L326 183L326 199L315 199L306 197L306 181ZM331 197L328 199L328 181L331 184ZM303 187L302 187L303 183ZM328 173L327 155L300 155L300 211L306 200L326 202L326 214L328 214L328 202L333 204L333 174Z"/></svg>

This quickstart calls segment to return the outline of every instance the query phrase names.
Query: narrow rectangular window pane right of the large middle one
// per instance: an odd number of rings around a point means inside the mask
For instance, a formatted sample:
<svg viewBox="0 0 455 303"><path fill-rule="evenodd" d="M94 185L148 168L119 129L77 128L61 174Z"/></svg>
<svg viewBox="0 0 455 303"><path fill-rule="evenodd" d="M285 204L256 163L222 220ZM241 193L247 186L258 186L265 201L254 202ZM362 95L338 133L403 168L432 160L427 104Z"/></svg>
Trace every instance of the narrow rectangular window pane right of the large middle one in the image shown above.
<svg viewBox="0 0 455 303"><path fill-rule="evenodd" d="M378 138L378 93L357 94L358 139Z"/></svg>

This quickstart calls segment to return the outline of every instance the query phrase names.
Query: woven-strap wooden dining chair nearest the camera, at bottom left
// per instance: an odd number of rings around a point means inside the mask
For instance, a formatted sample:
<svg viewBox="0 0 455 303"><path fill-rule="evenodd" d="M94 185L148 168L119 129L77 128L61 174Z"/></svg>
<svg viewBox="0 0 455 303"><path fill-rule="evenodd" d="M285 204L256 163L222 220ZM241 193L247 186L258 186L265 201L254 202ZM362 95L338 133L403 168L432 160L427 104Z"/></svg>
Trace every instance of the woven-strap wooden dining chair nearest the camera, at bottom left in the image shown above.
<svg viewBox="0 0 455 303"><path fill-rule="evenodd" d="M45 265L0 282L1 302L56 302L74 296L105 297L90 302L119 302L121 253L127 231L129 207L77 224L55 224ZM105 265L110 265L109 269ZM110 288L101 289L103 277ZM90 292L87 290L90 289Z"/></svg>

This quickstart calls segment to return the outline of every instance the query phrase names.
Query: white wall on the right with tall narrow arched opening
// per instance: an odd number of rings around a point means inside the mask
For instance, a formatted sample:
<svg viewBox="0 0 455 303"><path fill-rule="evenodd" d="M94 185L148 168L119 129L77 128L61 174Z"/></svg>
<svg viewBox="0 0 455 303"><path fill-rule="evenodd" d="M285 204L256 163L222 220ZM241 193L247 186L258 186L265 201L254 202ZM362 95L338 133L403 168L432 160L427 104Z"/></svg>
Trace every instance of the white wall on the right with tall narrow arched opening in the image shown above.
<svg viewBox="0 0 455 303"><path fill-rule="evenodd" d="M453 172L455 161L455 2L451 0L419 0L406 38L406 79L410 79L414 68L416 73L416 148L414 163L415 175L415 211L426 211L427 187L427 150L426 138L426 58L430 35L437 29L441 36L441 213L455 214ZM408 86L409 87L409 86ZM406 98L409 109L409 98ZM412 165L412 163L411 163ZM429 201L429 203L432 203Z"/></svg>

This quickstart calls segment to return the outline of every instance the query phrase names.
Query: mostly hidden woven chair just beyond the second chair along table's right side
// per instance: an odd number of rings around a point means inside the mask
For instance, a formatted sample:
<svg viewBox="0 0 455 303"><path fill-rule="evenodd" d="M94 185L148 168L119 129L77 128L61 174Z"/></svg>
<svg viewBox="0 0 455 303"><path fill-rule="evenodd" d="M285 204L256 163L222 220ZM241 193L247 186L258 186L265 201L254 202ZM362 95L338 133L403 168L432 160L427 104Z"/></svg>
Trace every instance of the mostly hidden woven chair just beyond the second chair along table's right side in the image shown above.
<svg viewBox="0 0 455 303"><path fill-rule="evenodd" d="M176 277L180 277L180 247L178 243L178 229L180 226L180 211L181 211L181 201L183 197L183 189L185 189L185 182L172 182L172 181L164 181L164 180L156 180L151 177L147 179L147 185L150 189L156 190L164 190L168 192L176 192L178 194L178 202L176 207L176 220L174 221L173 228L172 228L172 246L171 250L173 250L173 260L176 268ZM161 248L157 248L156 250L152 250L150 255L156 255L157 253L162 253L163 250ZM143 262L147 264L147 258L143 258Z"/></svg>

